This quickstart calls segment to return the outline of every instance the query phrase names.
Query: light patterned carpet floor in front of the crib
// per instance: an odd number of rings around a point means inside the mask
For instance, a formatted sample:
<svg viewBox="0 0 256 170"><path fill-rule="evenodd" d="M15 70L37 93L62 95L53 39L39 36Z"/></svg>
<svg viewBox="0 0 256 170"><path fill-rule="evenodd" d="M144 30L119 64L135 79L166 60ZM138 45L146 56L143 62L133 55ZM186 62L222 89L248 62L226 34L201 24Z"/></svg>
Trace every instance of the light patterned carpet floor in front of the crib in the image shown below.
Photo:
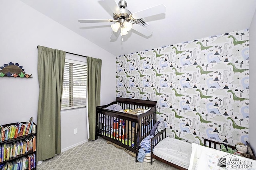
<svg viewBox="0 0 256 170"><path fill-rule="evenodd" d="M98 137L54 158L44 160L37 170L177 170L176 168L155 160L153 164L135 162L125 150L107 144Z"/></svg>

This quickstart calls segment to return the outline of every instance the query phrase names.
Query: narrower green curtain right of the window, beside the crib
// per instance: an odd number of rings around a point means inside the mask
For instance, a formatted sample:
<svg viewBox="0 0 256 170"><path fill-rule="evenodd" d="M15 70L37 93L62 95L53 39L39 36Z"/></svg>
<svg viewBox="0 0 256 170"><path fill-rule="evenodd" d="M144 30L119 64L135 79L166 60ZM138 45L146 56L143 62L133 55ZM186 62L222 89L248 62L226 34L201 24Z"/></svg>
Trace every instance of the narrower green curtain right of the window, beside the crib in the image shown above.
<svg viewBox="0 0 256 170"><path fill-rule="evenodd" d="M101 59L87 57L89 141L95 140L96 106L100 106Z"/></svg>

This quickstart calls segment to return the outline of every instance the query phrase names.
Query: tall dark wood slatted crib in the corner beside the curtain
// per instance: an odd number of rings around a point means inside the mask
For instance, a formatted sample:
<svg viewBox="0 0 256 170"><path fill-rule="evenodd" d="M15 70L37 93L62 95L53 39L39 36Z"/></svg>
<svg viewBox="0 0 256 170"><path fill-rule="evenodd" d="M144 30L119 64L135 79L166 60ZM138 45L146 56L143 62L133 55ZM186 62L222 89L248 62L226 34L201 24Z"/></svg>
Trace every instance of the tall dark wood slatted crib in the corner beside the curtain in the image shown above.
<svg viewBox="0 0 256 170"><path fill-rule="evenodd" d="M155 123L156 101L116 98L96 107L96 139L100 136L134 153Z"/></svg>

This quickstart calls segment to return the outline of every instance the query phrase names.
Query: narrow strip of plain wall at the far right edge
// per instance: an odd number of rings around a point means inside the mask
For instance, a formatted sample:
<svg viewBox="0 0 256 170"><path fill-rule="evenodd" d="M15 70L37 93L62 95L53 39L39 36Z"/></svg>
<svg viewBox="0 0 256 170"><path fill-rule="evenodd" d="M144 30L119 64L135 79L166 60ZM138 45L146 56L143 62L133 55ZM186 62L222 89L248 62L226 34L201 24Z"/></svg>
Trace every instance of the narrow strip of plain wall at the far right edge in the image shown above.
<svg viewBox="0 0 256 170"><path fill-rule="evenodd" d="M256 126L254 121L256 120L256 78L255 78L255 72L256 72L256 13L254 13L254 17L252 18L252 23L250 25L250 76L249 76L249 87L250 87L250 93L249 93L249 143L252 145L252 148L254 149L254 152L256 151Z"/></svg>

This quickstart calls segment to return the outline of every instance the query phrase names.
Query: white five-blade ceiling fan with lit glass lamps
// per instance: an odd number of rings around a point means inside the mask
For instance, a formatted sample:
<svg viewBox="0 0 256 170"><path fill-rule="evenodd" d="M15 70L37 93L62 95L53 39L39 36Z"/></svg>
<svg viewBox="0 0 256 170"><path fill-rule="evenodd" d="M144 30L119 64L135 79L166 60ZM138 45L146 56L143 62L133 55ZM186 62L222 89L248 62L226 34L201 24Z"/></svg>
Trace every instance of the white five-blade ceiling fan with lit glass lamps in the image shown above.
<svg viewBox="0 0 256 170"><path fill-rule="evenodd" d="M153 16L156 14L162 14L166 10L164 4L159 4L151 8L147 8L138 12L131 13L126 9L127 3L125 0L120 0L118 5L114 0L104 0L104 2L113 11L113 19L96 19L96 20L78 20L80 23L96 23L96 22L115 22L111 25L114 31L110 39L116 39L118 35L121 36L128 34L128 31L134 29L139 33L145 35L146 37L152 35L152 32L136 23L135 20L140 18L145 18L148 16ZM119 29L120 28L120 29ZM123 41L123 37L122 37Z"/></svg>

